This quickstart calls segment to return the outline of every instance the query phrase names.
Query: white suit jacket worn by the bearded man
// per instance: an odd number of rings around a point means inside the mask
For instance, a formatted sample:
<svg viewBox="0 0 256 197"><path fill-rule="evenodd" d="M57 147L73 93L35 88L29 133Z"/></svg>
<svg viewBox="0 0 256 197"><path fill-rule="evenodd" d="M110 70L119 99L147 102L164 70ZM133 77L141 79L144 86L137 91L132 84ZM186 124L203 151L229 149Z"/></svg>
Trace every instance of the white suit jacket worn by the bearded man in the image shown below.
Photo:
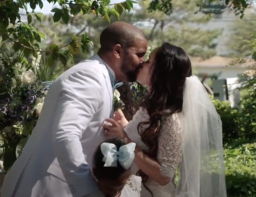
<svg viewBox="0 0 256 197"><path fill-rule="evenodd" d="M50 86L23 153L5 177L1 196L82 197L95 192L90 169L94 151L104 141L102 126L112 99L108 70L97 55L61 74ZM56 186L49 175L59 180Z"/></svg>

